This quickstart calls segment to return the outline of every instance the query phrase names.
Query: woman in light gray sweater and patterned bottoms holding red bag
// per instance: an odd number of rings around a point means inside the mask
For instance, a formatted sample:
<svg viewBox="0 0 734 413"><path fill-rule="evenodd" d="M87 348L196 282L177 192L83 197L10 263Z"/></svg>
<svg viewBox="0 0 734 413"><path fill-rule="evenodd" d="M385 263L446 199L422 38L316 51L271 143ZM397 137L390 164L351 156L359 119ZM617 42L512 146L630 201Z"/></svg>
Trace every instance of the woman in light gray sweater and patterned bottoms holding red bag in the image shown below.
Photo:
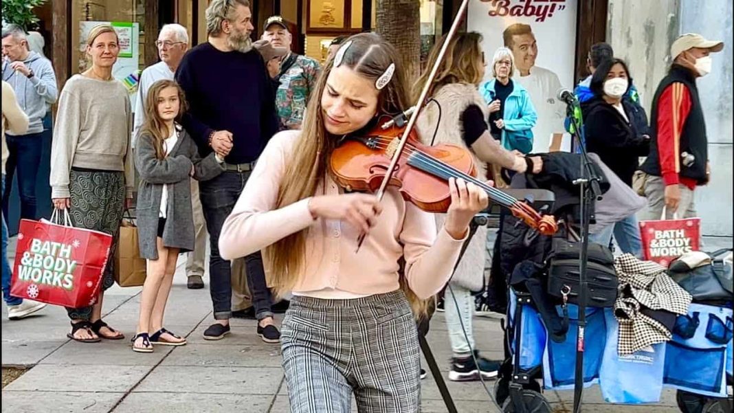
<svg viewBox="0 0 734 413"><path fill-rule="evenodd" d="M92 67L72 76L62 89L51 143L54 207L69 208L75 227L112 235L110 257L115 255L120 221L132 200L134 180L130 100L126 87L112 77L118 54L115 29L95 26L87 39ZM69 338L84 343L98 342L100 337L124 338L101 320L103 291L113 283L110 259L96 303L67 308L72 326Z"/></svg>

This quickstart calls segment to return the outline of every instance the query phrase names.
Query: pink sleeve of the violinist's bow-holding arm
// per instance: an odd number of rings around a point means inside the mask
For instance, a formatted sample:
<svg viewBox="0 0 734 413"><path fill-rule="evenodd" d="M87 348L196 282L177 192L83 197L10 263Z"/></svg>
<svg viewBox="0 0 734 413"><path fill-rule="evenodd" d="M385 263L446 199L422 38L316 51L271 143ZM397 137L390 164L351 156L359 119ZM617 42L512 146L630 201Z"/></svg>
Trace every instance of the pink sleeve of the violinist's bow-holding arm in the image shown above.
<svg viewBox="0 0 734 413"><path fill-rule="evenodd" d="M313 223L308 211L310 198L274 209L294 134L298 132L286 131L273 136L258 158L219 234L219 255L225 260L250 255Z"/></svg>

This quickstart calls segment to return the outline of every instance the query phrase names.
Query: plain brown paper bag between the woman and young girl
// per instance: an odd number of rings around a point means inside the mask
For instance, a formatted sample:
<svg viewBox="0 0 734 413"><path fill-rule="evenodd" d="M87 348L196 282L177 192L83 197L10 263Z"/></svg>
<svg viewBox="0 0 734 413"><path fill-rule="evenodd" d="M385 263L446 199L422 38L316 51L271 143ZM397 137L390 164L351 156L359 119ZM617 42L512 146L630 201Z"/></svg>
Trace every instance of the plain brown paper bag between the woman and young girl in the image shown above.
<svg viewBox="0 0 734 413"><path fill-rule="evenodd" d="M115 251L115 281L120 287L138 287L145 282L145 258L140 257L137 226L123 219Z"/></svg>

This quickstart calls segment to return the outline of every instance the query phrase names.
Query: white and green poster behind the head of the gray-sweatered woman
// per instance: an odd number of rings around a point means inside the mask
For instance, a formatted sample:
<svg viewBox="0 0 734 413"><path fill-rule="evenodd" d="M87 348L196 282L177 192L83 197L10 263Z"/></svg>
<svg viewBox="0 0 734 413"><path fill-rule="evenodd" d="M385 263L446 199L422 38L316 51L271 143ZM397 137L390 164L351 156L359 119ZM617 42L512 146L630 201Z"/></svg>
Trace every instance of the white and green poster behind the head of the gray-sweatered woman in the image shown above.
<svg viewBox="0 0 734 413"><path fill-rule="evenodd" d="M140 78L138 69L139 59L139 23L118 21L81 21L79 22L79 71L85 70L87 65L87 36L89 32L100 24L109 24L117 32L120 54L112 67L112 76L123 82L130 93L131 105L135 107L135 95Z"/></svg>

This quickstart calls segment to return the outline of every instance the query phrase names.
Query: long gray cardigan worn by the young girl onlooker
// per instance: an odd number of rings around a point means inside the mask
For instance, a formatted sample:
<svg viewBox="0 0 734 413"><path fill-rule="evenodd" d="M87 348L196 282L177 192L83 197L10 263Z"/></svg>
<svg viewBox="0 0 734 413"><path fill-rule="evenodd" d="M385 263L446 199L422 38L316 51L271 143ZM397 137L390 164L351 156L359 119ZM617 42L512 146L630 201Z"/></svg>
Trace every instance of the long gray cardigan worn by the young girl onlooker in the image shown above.
<svg viewBox="0 0 734 413"><path fill-rule="evenodd" d="M180 126L176 125L177 128ZM190 175L194 166L196 180L209 180L224 172L211 153L206 158L199 156L194 140L180 129L178 142L164 159L156 158L153 136L142 133L135 147L135 167L140 174L138 188L137 214L138 243L140 257L148 260L158 259L156 237L158 236L159 211L163 186L168 186L168 205L166 224L163 230L163 245L181 249L181 252L194 249L194 219L191 210Z"/></svg>

